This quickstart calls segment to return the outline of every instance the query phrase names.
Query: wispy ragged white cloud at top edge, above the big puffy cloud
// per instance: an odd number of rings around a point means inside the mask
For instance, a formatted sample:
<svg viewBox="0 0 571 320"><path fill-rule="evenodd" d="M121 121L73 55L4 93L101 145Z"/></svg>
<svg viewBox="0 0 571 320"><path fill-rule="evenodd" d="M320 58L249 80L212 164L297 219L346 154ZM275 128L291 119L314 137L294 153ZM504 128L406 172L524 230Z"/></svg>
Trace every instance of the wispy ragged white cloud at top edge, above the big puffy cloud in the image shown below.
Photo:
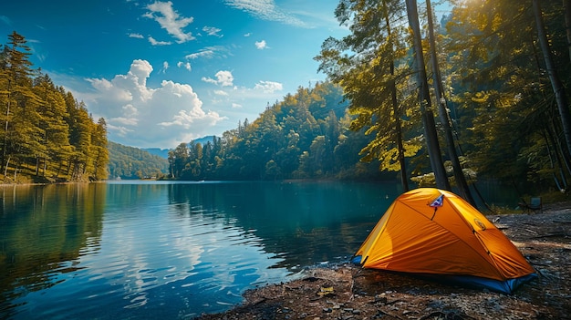
<svg viewBox="0 0 571 320"><path fill-rule="evenodd" d="M184 43L194 40L192 33L185 33L184 27L192 24L193 17L182 17L172 8L171 1L161 2L155 1L151 5L147 5L147 9L151 12L146 13L145 17L151 18L161 25L161 28L167 30L169 35L177 38L178 43Z"/></svg>

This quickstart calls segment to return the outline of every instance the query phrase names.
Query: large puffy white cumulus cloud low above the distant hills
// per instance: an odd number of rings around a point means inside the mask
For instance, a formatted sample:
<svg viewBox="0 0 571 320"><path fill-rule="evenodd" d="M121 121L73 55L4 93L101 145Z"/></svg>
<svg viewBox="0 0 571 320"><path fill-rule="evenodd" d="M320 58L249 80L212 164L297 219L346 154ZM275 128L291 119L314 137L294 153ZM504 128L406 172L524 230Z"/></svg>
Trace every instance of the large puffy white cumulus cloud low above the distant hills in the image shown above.
<svg viewBox="0 0 571 320"><path fill-rule="evenodd" d="M110 140L135 147L173 148L202 137L224 119L203 110L190 85L162 80L159 88L149 88L152 69L149 62L134 60L125 75L88 79L96 93L86 103L96 118L107 120Z"/></svg>

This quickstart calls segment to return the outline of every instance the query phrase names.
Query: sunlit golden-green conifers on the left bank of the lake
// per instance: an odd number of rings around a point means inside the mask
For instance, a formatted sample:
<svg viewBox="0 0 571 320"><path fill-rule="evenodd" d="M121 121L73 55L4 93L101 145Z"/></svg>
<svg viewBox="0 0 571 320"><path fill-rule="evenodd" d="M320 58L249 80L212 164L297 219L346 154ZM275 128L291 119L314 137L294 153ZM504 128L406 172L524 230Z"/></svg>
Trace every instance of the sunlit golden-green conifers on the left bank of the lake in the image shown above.
<svg viewBox="0 0 571 320"><path fill-rule="evenodd" d="M99 181L108 177L105 119L33 69L24 36L0 45L0 177L18 181Z"/></svg>

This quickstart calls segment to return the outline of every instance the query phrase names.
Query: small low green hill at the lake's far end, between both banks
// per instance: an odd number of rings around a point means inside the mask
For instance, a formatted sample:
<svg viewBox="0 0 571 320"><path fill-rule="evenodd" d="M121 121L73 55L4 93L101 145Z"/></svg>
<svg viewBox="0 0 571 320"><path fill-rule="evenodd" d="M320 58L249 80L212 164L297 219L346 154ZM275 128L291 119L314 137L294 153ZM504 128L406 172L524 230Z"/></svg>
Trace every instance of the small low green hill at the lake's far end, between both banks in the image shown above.
<svg viewBox="0 0 571 320"><path fill-rule="evenodd" d="M109 179L144 179L168 173L169 161L146 150L109 141Z"/></svg>

